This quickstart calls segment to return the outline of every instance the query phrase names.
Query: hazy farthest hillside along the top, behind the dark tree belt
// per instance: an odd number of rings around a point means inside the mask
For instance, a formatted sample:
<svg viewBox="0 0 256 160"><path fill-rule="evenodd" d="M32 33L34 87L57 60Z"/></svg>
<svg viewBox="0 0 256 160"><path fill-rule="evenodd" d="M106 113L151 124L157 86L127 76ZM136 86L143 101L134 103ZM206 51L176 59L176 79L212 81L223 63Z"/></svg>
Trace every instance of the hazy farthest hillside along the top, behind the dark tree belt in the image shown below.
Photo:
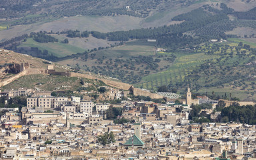
<svg viewBox="0 0 256 160"><path fill-rule="evenodd" d="M202 5L226 3L235 11L248 11L253 1L6 1L0 3L0 41L37 31L127 31L171 25L171 18ZM89 2L89 3L88 3ZM72 7L70 7L72 6ZM129 9L126 7L129 6ZM81 9L82 8L82 9Z"/></svg>

